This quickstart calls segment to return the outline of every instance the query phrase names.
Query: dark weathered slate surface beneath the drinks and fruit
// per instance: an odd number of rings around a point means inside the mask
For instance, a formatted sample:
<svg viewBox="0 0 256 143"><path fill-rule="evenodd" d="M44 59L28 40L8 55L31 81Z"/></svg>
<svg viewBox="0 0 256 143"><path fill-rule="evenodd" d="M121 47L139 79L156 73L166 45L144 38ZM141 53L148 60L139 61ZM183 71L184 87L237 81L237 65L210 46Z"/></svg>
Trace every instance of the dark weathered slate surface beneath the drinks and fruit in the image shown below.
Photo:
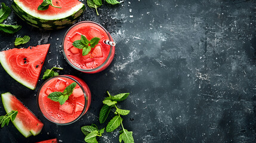
<svg viewBox="0 0 256 143"><path fill-rule="evenodd" d="M8 6L10 1L3 1ZM85 4L85 1L82 1ZM79 21L102 24L115 41L113 63L97 74L72 69L63 58L61 39L68 29L44 31L13 13L5 23L21 24L13 35L0 33L1 50L14 47L16 36L29 35L29 45L51 43L43 67L64 67L88 83L91 107L76 123L48 122L36 105L35 91L25 88L0 67L0 93L17 97L45 123L38 136L24 138L10 124L0 129L0 142L84 142L81 126L95 123L106 97L130 92L119 107L131 110L124 126L135 142L256 142L256 1L255 0L130 0L103 2L100 16L87 7ZM41 74L42 77L42 74ZM0 102L0 114L5 114ZM113 113L111 113L113 116ZM110 120L107 119L107 120ZM118 142L120 129L99 142Z"/></svg>

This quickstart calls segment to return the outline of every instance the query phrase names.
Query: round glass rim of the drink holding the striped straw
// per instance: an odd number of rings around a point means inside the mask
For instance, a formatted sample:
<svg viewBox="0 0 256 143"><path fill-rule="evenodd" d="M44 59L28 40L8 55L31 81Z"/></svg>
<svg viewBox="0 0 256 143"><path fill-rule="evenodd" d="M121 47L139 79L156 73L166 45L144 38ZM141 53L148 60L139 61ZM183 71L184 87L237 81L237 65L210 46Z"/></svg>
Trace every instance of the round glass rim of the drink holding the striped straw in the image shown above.
<svg viewBox="0 0 256 143"><path fill-rule="evenodd" d="M82 69L82 68L79 68L79 67L75 66L71 61L69 61L69 58L67 58L67 56L66 56L66 54L65 54L65 51L64 51L64 40L65 40L65 38L66 38L66 36L67 36L67 33L68 33L73 27L75 27L76 25L81 24L81 23L93 23L93 24L97 24L98 26L100 26L100 27L104 30L104 32L107 33L107 36L109 37L109 40L110 40L110 41L113 42L113 39L112 39L112 37L110 36L109 32L107 32L107 30L106 30L103 26L101 26L101 24L95 23L94 21L81 21L81 22L79 22L79 23L74 24L73 26L71 26L71 27L67 30L67 32L65 33L64 38L63 38L63 40L62 40L62 44L61 44L61 45L62 45L62 52L63 52L63 55L64 55L64 57L65 57L67 63L69 63L69 65L72 66L72 67L73 67L74 69L76 69L76 70L84 71L84 72L90 73L90 72L93 72L93 71L100 70L101 67L103 67L105 64L107 64L107 61L109 61L109 58L111 57L113 46L110 45L109 55L107 56L106 60L105 60L100 66L95 67L94 69Z"/></svg>

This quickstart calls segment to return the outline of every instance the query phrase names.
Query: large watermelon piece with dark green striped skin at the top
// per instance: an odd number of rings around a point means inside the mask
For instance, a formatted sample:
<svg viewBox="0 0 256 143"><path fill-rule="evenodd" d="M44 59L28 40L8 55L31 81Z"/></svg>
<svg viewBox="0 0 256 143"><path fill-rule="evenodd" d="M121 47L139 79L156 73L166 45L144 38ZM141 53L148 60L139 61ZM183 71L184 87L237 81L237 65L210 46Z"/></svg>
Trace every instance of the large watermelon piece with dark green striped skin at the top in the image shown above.
<svg viewBox="0 0 256 143"><path fill-rule="evenodd" d="M53 0L53 5L48 10L38 10L43 0L14 0L11 8L22 20L32 26L42 29L61 29L75 23L77 18L84 13L85 5L78 0Z"/></svg>

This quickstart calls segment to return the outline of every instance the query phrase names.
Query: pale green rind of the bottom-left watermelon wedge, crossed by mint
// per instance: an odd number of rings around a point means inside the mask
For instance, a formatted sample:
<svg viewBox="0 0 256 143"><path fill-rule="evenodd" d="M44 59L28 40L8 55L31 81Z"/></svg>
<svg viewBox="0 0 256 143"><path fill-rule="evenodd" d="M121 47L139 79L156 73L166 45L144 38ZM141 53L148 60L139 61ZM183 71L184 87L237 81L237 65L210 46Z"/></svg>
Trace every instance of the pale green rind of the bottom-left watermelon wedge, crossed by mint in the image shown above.
<svg viewBox="0 0 256 143"><path fill-rule="evenodd" d="M6 113L9 113L10 111L12 111L12 109L10 107L11 96L13 96L13 95L10 92L6 92L5 94L1 95L2 104L4 105L4 109L5 109ZM17 130L26 138L32 135L31 132L24 132L24 130L22 130L23 126L19 121L14 120L12 122L13 122L13 125L17 128Z"/></svg>

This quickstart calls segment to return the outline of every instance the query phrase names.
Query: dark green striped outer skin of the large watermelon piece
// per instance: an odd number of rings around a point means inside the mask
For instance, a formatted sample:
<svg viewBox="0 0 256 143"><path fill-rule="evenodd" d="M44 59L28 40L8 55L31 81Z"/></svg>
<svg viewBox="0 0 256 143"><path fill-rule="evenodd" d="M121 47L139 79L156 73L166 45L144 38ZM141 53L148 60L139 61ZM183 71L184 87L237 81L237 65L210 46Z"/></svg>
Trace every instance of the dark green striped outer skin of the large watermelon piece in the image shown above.
<svg viewBox="0 0 256 143"><path fill-rule="evenodd" d="M17 1L14 0L13 4L11 5L14 13L18 15L22 20L26 21L26 23L45 30L54 30L54 29L62 29L64 27L70 26L78 19L78 17L84 13L86 10L85 5L80 8L76 13L72 15L67 15L65 18L56 19L56 20L45 20L39 17L33 17L32 15L23 11L18 5Z"/></svg>

